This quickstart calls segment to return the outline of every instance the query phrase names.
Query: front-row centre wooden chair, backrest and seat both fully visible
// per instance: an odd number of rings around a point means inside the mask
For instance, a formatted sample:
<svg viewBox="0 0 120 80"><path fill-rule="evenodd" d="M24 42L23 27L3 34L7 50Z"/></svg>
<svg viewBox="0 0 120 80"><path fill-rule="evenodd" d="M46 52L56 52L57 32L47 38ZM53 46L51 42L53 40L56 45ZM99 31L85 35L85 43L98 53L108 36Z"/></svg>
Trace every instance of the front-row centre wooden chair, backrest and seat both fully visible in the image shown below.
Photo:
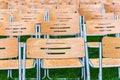
<svg viewBox="0 0 120 80"><path fill-rule="evenodd" d="M79 61L79 58L85 57L84 40L82 38L30 38L26 45L27 57L39 59L40 69L84 67L84 62L80 63ZM41 80L41 75L39 78Z"/></svg>

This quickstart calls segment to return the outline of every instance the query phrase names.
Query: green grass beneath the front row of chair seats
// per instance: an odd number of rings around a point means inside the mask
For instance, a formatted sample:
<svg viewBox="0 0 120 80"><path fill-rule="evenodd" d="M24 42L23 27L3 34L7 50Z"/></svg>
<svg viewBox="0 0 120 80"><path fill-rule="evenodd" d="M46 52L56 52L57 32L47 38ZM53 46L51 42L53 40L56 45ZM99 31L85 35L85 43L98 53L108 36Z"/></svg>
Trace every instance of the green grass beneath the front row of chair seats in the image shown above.
<svg viewBox="0 0 120 80"><path fill-rule="evenodd" d="M97 74L98 69L91 68L91 80L98 80ZM27 70L27 78L35 78L36 77L36 71L35 69ZM6 79L7 71L1 71L0 72L0 80L14 80L14 79ZM18 71L13 70L13 76L18 77ZM56 78L65 78L67 77L68 80L75 80L73 78L78 78L80 76L80 69L53 69L50 70L50 76L53 78L53 80L56 80ZM117 68L106 68L103 69L103 80L120 80L117 77ZM72 78L72 79L70 79ZM44 79L48 80L48 79Z"/></svg>

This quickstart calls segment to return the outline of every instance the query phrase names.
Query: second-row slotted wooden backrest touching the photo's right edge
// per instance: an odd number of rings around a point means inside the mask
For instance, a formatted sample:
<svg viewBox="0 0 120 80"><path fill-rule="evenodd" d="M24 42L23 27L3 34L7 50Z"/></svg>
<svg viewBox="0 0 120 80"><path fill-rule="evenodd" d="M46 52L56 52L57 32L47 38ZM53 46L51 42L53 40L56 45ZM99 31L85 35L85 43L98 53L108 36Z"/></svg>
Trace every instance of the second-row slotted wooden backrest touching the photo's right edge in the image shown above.
<svg viewBox="0 0 120 80"><path fill-rule="evenodd" d="M120 33L119 20L86 21L88 35L103 35Z"/></svg>

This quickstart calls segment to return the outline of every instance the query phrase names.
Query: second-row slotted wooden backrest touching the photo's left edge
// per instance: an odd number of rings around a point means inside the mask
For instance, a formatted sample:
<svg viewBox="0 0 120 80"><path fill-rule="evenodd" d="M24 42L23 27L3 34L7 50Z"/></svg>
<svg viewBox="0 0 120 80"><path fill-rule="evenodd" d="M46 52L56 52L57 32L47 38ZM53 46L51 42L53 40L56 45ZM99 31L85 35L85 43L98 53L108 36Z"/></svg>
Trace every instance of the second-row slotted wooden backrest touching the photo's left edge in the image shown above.
<svg viewBox="0 0 120 80"><path fill-rule="evenodd" d="M35 34L34 22L1 22L0 36L21 36Z"/></svg>

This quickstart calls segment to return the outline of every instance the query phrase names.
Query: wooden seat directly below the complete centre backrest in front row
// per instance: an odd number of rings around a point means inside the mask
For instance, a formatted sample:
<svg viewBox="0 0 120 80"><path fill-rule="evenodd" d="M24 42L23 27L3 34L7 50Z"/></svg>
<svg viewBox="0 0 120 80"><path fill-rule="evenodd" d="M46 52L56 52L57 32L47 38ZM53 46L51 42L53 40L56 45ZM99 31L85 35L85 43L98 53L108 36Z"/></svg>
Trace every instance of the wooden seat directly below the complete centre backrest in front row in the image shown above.
<svg viewBox="0 0 120 80"><path fill-rule="evenodd" d="M44 59L42 68L73 68L83 67L79 59Z"/></svg>

